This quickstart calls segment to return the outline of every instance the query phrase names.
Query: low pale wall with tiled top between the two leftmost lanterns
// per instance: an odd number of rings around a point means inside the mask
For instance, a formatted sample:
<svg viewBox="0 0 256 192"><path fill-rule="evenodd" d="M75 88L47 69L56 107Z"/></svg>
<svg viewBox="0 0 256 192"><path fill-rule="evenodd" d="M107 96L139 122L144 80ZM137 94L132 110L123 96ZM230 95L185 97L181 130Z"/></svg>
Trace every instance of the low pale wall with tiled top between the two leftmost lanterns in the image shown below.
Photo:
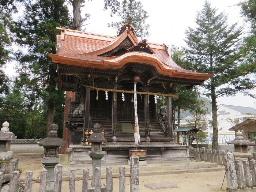
<svg viewBox="0 0 256 192"><path fill-rule="evenodd" d="M39 139L16 139L11 143L13 153L44 153L44 148L39 147Z"/></svg>

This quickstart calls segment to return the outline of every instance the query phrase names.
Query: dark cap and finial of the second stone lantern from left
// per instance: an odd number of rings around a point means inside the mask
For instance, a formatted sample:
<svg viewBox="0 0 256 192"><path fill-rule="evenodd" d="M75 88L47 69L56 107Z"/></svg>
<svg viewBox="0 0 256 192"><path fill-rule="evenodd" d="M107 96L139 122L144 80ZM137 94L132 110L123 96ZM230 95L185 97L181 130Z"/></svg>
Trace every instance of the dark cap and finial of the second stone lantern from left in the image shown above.
<svg viewBox="0 0 256 192"><path fill-rule="evenodd" d="M48 137L39 141L38 145L43 147L59 147L65 144L65 141L57 137L58 125L55 123L50 125Z"/></svg>

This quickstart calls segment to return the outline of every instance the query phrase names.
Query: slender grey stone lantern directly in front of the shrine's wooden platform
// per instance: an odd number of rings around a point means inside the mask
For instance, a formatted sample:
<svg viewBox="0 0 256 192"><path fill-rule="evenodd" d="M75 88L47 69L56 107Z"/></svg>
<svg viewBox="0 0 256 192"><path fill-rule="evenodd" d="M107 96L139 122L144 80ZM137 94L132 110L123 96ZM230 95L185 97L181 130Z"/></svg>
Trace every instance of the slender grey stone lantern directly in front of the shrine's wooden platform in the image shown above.
<svg viewBox="0 0 256 192"><path fill-rule="evenodd" d="M105 151L102 151L102 142L106 142L103 134L99 130L100 126L98 123L94 125L93 134L87 139L88 143L91 143L91 151L88 151L90 158L93 162L93 179L91 180L91 188L89 191L93 191L95 187L95 168L101 167L101 159L105 155ZM101 191L105 190L105 185L102 184Z"/></svg>

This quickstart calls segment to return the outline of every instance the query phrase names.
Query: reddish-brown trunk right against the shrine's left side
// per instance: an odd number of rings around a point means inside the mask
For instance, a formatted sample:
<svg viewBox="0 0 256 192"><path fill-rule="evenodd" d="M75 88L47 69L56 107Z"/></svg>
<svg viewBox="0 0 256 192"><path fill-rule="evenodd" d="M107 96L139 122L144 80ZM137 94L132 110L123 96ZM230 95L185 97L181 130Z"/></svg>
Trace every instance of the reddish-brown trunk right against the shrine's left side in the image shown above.
<svg viewBox="0 0 256 192"><path fill-rule="evenodd" d="M76 93L71 91L66 91L66 99L65 99L65 107L64 107L64 118L63 118L63 140L65 141L65 145L61 146L60 154L67 153L67 148L69 148L69 139L70 139L70 132L68 129L65 128L65 121L68 120L68 109L69 109L69 99L75 99Z"/></svg>

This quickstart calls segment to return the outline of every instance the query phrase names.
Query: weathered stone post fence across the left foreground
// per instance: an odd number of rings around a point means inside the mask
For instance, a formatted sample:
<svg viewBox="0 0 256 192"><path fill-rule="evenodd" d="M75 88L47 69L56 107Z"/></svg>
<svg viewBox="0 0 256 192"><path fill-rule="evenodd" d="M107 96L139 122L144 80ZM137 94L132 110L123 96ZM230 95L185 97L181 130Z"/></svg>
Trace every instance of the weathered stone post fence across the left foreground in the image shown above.
<svg viewBox="0 0 256 192"><path fill-rule="evenodd" d="M130 158L130 192L139 192L139 157L132 156ZM62 169L63 166L58 164L54 167L54 192L61 192L61 184L62 184ZM38 183L33 182L33 171L29 170L26 172L25 183L19 183L19 171L14 171L11 173L11 179L9 185L9 192L18 192L18 185L24 185L25 192L31 192L32 184ZM75 191L75 176L76 170L70 169L69 171L69 191ZM41 170L40 182L39 182L39 192L46 192L46 177L47 170ZM0 172L0 183L2 183L3 173ZM95 192L101 192L101 168L95 168ZM6 184L5 184L6 185ZM0 185L1 188L1 185ZM89 189L89 169L83 169L83 181L82 188L80 191L88 192ZM119 192L125 192L125 167L122 166L119 168ZM112 167L106 167L106 192L113 192L113 175L112 175Z"/></svg>

